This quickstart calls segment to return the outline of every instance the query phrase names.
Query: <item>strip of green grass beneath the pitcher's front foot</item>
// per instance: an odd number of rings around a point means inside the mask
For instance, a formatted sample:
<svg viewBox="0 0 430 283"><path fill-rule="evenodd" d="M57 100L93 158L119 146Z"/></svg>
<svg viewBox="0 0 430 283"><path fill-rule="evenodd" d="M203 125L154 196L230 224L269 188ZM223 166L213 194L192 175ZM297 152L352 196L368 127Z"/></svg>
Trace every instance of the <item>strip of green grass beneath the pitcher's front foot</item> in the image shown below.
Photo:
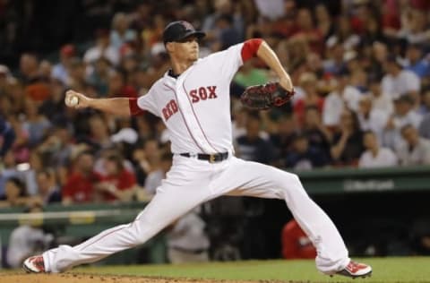
<svg viewBox="0 0 430 283"><path fill-rule="evenodd" d="M369 258L374 273L371 279L354 282L430 282L430 257ZM343 277L325 276L315 269L314 261L210 262L183 265L100 266L73 270L97 274L155 276L192 279L278 279L285 282L352 282Z"/></svg>

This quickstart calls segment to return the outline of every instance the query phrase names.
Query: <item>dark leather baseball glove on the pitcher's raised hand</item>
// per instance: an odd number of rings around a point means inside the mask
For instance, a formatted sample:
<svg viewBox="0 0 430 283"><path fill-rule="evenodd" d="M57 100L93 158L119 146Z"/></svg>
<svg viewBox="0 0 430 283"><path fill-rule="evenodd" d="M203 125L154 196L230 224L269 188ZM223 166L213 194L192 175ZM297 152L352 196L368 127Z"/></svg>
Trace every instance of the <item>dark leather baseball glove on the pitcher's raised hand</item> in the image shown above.
<svg viewBox="0 0 430 283"><path fill-rule="evenodd" d="M287 103L294 94L294 90L285 90L279 82L269 82L247 87L240 96L240 100L246 107L262 110L280 107Z"/></svg>

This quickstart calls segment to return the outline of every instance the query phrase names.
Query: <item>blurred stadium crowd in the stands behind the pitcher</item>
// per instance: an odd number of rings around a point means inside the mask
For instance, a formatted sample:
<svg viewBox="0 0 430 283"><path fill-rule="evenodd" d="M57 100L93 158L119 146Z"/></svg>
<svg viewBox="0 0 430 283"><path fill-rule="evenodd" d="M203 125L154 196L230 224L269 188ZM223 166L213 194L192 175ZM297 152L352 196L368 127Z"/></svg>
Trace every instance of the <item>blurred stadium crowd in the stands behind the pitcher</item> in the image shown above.
<svg viewBox="0 0 430 283"><path fill-rule="evenodd" d="M201 56L265 39L294 81L290 104L254 113L240 94L273 73L254 60L236 74L237 156L297 170L430 164L428 1L131 3L108 10L110 26L95 29L90 42L60 47L56 61L31 50L17 68L0 65L0 207L128 202L155 193L170 167L162 121L70 110L64 91L145 95L168 70L161 34L173 20L207 32Z"/></svg>

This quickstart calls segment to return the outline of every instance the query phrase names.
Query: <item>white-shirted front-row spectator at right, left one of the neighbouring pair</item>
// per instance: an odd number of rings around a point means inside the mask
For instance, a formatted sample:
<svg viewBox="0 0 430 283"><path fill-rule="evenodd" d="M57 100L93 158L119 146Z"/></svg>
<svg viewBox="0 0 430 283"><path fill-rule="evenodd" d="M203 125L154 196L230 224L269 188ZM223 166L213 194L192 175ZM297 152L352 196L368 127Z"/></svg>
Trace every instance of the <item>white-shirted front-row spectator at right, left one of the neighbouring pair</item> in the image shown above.
<svg viewBox="0 0 430 283"><path fill-rule="evenodd" d="M358 161L358 167L391 167L397 165L397 156L388 148L379 146L376 134L372 131L366 131L363 134L363 144L366 151Z"/></svg>

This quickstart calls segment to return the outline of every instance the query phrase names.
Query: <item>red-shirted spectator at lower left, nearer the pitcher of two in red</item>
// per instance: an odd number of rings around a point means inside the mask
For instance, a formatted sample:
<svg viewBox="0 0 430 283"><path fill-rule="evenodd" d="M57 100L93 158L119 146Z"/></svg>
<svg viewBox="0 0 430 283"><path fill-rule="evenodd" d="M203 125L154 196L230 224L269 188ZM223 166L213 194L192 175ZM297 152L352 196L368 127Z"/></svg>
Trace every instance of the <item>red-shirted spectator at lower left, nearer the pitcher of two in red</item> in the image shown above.
<svg viewBox="0 0 430 283"><path fill-rule="evenodd" d="M103 162L106 176L96 185L96 198L105 202L131 201L137 188L134 173L124 167L124 160L118 155L107 156Z"/></svg>

